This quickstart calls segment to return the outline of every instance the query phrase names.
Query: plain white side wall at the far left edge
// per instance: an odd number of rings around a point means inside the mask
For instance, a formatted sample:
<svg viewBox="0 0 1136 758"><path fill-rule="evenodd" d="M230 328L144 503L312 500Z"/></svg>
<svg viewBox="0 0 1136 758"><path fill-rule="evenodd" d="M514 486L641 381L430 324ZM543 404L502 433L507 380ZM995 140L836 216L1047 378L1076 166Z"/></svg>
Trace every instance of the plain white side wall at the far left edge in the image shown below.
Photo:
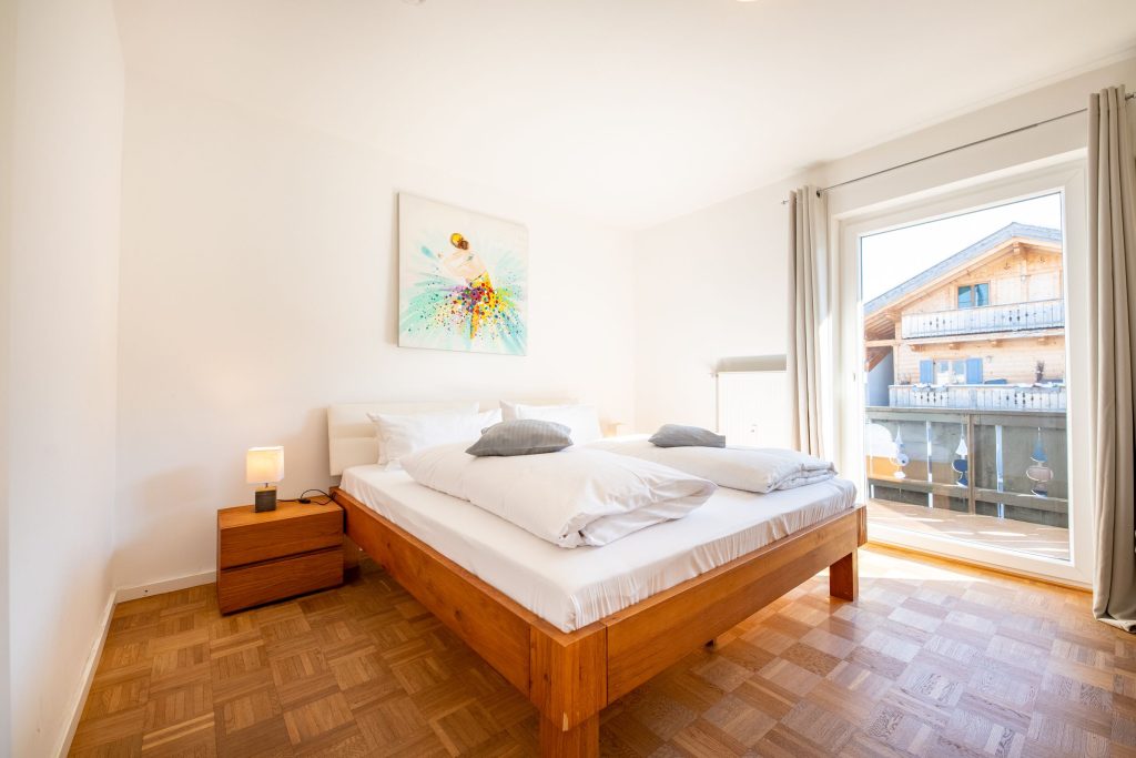
<svg viewBox="0 0 1136 758"><path fill-rule="evenodd" d="M109 0L26 0L16 16L11 755L49 756L111 592L124 74Z"/></svg>

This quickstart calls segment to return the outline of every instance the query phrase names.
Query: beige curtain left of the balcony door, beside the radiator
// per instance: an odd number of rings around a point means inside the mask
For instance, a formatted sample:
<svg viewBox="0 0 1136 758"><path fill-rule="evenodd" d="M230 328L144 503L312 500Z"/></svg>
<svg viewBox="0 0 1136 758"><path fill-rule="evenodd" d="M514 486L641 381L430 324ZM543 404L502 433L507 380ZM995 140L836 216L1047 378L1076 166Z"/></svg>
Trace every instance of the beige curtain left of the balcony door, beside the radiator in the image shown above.
<svg viewBox="0 0 1136 758"><path fill-rule="evenodd" d="M820 434L822 382L821 330L827 326L827 219L816 188L788 198L788 351L786 367L792 443L824 455Z"/></svg>

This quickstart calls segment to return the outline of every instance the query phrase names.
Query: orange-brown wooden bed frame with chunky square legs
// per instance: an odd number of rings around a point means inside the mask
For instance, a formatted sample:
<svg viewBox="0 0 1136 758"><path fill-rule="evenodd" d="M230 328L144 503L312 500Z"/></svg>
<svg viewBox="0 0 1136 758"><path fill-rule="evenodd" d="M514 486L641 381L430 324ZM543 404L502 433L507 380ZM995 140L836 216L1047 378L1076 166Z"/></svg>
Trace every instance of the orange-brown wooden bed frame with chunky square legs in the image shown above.
<svg viewBox="0 0 1136 758"><path fill-rule="evenodd" d="M346 534L541 711L541 753L598 756L600 710L824 568L855 600L863 506L566 633L334 488Z"/></svg>

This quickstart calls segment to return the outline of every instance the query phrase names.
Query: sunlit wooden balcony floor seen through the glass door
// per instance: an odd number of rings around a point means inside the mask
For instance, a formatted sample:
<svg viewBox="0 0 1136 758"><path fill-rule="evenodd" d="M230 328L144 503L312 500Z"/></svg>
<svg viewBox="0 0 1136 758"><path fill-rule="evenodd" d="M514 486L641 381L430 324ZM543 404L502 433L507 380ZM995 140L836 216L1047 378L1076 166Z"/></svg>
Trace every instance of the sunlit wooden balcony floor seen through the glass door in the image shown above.
<svg viewBox="0 0 1136 758"><path fill-rule="evenodd" d="M869 534L875 524L1069 560L1069 530L1060 526L887 500L868 501L868 522Z"/></svg>

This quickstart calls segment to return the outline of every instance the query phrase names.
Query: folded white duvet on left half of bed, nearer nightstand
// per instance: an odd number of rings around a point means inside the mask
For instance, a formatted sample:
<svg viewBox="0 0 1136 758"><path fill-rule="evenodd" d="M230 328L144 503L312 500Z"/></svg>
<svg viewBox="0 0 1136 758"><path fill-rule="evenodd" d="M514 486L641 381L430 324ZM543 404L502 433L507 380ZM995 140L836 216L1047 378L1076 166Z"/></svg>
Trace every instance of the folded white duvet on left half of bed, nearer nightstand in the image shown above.
<svg viewBox="0 0 1136 758"><path fill-rule="evenodd" d="M682 518L717 489L704 478L603 450L475 458L467 447L428 448L400 463L419 484L468 500L561 548L608 544Z"/></svg>

